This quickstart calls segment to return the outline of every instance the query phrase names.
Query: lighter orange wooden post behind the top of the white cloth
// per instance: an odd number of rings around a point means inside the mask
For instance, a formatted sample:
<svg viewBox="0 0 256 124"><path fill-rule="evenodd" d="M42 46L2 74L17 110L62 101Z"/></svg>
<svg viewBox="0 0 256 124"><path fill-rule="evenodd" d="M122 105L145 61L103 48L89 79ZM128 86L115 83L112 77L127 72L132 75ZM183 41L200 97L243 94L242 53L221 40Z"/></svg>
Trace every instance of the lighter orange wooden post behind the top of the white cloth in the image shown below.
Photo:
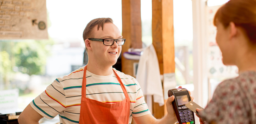
<svg viewBox="0 0 256 124"><path fill-rule="evenodd" d="M158 56L160 74L174 73L173 0L152 0L152 39ZM153 115L156 118L161 118L166 113L166 106L153 104Z"/></svg>

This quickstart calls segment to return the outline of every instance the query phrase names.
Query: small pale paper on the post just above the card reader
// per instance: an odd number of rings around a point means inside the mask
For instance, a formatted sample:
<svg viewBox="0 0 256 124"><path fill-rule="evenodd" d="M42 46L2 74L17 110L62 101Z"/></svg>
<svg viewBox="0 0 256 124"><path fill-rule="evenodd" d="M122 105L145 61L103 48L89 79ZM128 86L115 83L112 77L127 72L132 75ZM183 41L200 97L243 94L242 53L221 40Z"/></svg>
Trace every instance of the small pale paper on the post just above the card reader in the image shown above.
<svg viewBox="0 0 256 124"><path fill-rule="evenodd" d="M173 89L176 87L176 78L175 78L175 73L166 73L164 74L164 79L163 79L163 87L164 87L164 98L168 99L168 90Z"/></svg>

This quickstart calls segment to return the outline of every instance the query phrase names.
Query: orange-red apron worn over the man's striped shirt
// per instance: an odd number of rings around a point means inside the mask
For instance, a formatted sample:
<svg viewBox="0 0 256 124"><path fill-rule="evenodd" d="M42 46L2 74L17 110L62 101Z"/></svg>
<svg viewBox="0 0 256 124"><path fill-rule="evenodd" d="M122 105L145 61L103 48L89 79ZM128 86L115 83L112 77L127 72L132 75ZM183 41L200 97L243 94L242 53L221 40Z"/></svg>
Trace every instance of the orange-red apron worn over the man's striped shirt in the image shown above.
<svg viewBox="0 0 256 124"><path fill-rule="evenodd" d="M114 73L124 92L125 99L123 101L107 104L94 99L86 98L86 69L82 81L82 99L80 109L79 124L128 124L130 115L130 98L126 92L117 72Z"/></svg>

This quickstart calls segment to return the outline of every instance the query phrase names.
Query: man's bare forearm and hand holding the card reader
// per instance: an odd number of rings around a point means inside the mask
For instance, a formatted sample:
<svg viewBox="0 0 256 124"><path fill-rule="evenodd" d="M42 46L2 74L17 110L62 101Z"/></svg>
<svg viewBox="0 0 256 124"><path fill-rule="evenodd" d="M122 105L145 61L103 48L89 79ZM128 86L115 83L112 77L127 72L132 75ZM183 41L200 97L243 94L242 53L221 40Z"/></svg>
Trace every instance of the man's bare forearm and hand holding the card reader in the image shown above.
<svg viewBox="0 0 256 124"><path fill-rule="evenodd" d="M141 117L133 117L133 119L137 124L174 124L178 120L171 104L172 101L174 101L174 96L167 99L167 115L165 115L165 117L163 117L162 119L155 119L155 117L153 117L153 115L151 114Z"/></svg>

